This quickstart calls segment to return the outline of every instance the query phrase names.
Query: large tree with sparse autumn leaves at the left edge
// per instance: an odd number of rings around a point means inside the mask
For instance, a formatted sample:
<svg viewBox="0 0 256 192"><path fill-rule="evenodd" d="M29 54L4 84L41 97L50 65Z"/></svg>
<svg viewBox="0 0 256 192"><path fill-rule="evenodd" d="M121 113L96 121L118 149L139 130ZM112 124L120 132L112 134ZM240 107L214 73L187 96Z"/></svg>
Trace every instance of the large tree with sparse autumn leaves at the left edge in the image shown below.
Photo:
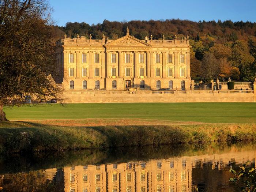
<svg viewBox="0 0 256 192"><path fill-rule="evenodd" d="M3 106L58 98L50 8L44 0L0 0L0 120ZM51 78L51 76L53 78Z"/></svg>

